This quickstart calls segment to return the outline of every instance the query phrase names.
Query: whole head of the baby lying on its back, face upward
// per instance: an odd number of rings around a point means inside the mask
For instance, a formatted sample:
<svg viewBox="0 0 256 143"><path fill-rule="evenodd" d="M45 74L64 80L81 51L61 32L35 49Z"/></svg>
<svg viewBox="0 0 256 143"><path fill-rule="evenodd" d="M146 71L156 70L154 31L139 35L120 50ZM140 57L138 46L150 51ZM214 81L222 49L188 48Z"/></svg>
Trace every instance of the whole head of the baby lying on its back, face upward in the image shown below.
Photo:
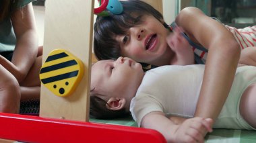
<svg viewBox="0 0 256 143"><path fill-rule="evenodd" d="M141 64L130 58L96 62L91 74L90 114L106 119L129 113L143 75Z"/></svg>

